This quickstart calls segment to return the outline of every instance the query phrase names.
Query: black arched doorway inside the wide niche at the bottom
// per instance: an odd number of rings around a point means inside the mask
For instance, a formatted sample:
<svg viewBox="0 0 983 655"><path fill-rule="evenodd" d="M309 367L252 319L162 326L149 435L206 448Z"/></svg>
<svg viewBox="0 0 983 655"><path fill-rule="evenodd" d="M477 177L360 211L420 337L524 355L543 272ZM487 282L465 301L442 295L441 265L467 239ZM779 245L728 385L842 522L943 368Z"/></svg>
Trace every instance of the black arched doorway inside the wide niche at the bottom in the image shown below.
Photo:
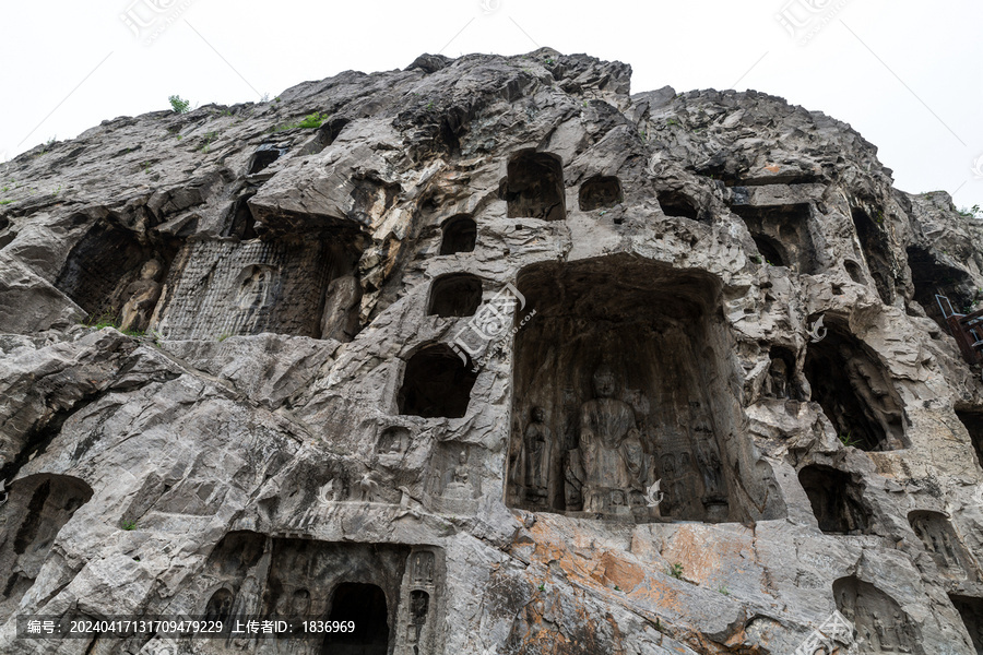
<svg viewBox="0 0 983 655"><path fill-rule="evenodd" d="M334 590L329 621L351 621L353 632L329 633L321 645L323 655L387 655L389 611L386 594L374 584L343 582Z"/></svg>

